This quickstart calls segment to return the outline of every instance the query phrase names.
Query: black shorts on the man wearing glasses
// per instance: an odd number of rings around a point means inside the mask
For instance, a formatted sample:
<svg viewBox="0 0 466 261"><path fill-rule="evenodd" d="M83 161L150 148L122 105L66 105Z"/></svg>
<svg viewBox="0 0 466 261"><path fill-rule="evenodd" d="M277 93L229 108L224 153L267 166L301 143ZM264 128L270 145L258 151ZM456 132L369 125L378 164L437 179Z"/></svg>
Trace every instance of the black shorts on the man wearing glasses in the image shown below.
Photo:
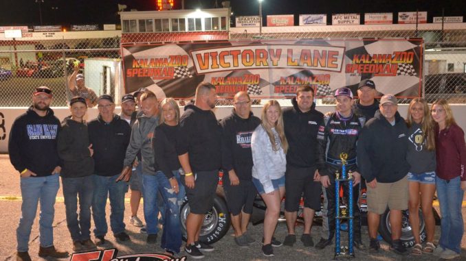
<svg viewBox="0 0 466 261"><path fill-rule="evenodd" d="M227 200L228 211L236 216L241 210L246 214L252 213L252 203L257 195L257 190L252 180L240 179L238 186L231 186L228 174L223 176L223 188Z"/></svg>

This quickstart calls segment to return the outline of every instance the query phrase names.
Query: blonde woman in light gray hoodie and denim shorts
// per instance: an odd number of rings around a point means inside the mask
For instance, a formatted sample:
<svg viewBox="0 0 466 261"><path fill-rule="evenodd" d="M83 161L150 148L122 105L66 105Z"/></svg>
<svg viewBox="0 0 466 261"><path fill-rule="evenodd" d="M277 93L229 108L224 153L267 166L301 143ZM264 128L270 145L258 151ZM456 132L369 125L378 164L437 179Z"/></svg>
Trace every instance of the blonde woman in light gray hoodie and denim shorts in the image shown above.
<svg viewBox="0 0 466 261"><path fill-rule="evenodd" d="M262 110L262 124L252 134L252 182L267 210L264 219L264 256L274 256L272 246L282 245L273 238L280 215L280 203L285 195L285 171L288 142L283 127L282 109L278 101L271 100Z"/></svg>

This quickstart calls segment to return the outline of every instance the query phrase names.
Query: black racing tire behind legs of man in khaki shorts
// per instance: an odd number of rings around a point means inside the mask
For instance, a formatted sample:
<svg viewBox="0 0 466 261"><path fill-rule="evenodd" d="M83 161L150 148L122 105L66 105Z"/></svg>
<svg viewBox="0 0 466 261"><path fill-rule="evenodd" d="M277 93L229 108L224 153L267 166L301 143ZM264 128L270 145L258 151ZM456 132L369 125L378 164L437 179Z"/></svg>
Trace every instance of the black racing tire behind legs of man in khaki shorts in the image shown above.
<svg viewBox="0 0 466 261"><path fill-rule="evenodd" d="M401 221L401 243L405 247L414 247L416 244L414 242L414 236L412 236L412 229L409 221L408 210L402 211L402 221ZM419 236L421 238L421 243L427 238L425 234L425 222L422 210L419 210ZM386 210L384 214L380 216L380 225L379 225L379 234L387 243L392 242L392 232L390 227L390 210Z"/></svg>

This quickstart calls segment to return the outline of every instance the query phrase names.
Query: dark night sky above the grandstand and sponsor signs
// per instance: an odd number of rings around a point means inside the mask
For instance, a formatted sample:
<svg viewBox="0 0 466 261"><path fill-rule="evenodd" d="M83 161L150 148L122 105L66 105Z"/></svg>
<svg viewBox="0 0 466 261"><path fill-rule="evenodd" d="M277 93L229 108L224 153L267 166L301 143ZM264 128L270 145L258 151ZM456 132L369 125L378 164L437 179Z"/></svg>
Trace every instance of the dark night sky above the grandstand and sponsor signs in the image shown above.
<svg viewBox="0 0 466 261"><path fill-rule="evenodd" d="M155 10L155 0L0 0L0 26L5 25L40 25L39 4L44 25L71 24L104 24L120 23L117 14L117 4L128 5L128 9L140 11ZM218 0L221 5L223 0ZM256 0L230 1L234 16L257 15ZM185 0L186 9L213 8L215 0ZM175 7L181 9L181 0L175 0ZM298 14L331 14L366 12L397 12L428 11L428 21L433 16L441 16L445 8L445 16L465 16L465 0L394 0L394 1L344 1L344 0L264 0L263 15L296 14L295 24L298 24Z"/></svg>

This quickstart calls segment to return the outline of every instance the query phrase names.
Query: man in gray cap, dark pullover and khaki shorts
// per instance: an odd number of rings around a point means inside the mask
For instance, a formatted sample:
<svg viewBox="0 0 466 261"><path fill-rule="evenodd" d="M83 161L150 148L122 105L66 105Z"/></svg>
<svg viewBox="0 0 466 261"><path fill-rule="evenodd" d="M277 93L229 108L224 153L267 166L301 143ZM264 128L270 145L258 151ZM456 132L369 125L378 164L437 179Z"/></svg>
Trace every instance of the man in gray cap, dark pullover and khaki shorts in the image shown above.
<svg viewBox="0 0 466 261"><path fill-rule="evenodd" d="M401 210L408 209L408 127L397 112L397 103L394 95L381 97L379 111L364 125L359 135L357 166L367 184L370 253L377 253L380 249L377 230L380 215L388 206L392 231L390 250L406 256L409 253L400 238Z"/></svg>

